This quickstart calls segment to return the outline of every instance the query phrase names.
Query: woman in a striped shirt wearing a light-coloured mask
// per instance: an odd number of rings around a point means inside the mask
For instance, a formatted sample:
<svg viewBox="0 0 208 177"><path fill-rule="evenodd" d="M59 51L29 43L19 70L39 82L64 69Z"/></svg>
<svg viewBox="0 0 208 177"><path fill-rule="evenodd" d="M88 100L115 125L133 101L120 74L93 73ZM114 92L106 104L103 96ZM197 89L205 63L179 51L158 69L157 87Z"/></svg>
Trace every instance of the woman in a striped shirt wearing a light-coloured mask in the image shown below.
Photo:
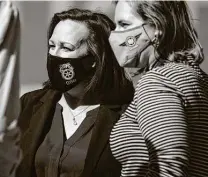
<svg viewBox="0 0 208 177"><path fill-rule="evenodd" d="M121 176L208 176L208 76L183 1L118 1L109 41L122 67L138 68L134 99L110 144Z"/></svg>

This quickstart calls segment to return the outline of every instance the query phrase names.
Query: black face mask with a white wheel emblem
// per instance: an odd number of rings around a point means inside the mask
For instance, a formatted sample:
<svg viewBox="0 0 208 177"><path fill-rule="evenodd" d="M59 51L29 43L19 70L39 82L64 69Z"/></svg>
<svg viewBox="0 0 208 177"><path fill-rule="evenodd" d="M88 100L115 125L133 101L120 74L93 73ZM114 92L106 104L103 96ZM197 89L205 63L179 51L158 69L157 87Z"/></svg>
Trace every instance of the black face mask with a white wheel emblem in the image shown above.
<svg viewBox="0 0 208 177"><path fill-rule="evenodd" d="M90 55L80 58L61 58L48 55L47 70L52 88L66 92L95 72L94 58Z"/></svg>

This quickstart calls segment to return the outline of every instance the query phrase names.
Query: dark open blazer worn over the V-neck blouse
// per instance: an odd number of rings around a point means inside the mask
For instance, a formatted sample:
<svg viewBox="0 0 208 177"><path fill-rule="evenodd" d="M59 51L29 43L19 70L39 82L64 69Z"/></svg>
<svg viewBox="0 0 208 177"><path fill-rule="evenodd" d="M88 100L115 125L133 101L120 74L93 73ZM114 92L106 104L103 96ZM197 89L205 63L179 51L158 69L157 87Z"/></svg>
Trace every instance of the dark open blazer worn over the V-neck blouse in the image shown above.
<svg viewBox="0 0 208 177"><path fill-rule="evenodd" d="M19 116L19 126L22 131L20 146L23 159L17 170L17 177L36 176L35 154L50 129L60 96L52 89L41 89L21 97L22 111ZM118 105L100 106L81 177L120 176L121 166L111 153L109 136L121 111L122 106Z"/></svg>

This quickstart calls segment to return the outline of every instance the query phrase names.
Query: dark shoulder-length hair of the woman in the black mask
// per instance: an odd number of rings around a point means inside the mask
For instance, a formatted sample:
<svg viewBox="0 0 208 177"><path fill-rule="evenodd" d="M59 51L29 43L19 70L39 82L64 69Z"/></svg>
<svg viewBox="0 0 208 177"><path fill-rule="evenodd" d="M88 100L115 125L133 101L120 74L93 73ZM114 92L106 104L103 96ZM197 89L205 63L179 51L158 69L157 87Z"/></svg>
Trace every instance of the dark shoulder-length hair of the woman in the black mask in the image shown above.
<svg viewBox="0 0 208 177"><path fill-rule="evenodd" d="M125 88L130 88L133 93L132 83L127 79L124 69L119 66L108 41L110 32L115 29L113 21L101 13L73 8L54 14L48 29L48 40L56 25L67 19L85 24L90 31L86 42L89 53L95 58L96 69L86 86L85 96L96 93L98 99L102 100L113 90L119 93L119 90ZM46 82L45 87L51 87L50 81ZM132 93L129 94L132 96Z"/></svg>

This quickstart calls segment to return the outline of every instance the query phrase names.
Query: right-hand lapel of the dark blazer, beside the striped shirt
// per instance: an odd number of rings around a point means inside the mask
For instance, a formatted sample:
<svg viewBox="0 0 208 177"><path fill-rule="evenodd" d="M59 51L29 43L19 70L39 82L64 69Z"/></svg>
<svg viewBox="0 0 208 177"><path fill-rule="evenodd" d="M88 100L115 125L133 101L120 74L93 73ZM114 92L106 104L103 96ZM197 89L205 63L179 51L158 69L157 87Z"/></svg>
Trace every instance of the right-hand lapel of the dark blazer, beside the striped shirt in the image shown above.
<svg viewBox="0 0 208 177"><path fill-rule="evenodd" d="M121 107L117 106L117 108ZM106 144L109 142L108 140L111 130L119 117L120 114L116 111L113 111L109 107L100 107L85 160L85 167L82 177L91 176L99 161L100 155L102 154Z"/></svg>

